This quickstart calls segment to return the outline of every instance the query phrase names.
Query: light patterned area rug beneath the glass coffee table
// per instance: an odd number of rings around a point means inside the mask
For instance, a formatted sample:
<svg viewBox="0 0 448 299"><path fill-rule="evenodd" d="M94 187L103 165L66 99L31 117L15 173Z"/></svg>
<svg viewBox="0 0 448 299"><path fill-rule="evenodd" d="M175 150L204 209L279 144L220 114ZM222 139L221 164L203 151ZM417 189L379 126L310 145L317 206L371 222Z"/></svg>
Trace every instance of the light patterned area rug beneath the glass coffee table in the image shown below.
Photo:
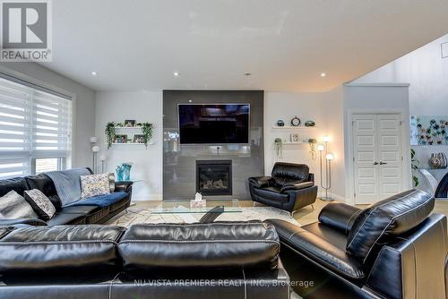
<svg viewBox="0 0 448 299"><path fill-rule="evenodd" d="M241 212L223 213L215 221L248 221L265 219L282 219L299 226L296 219L292 218L287 211L271 207L241 208ZM198 222L205 214L153 214L151 209L131 207L127 213L122 213L116 218L108 220L106 224L111 226L129 227L134 224L148 223L194 223Z"/></svg>

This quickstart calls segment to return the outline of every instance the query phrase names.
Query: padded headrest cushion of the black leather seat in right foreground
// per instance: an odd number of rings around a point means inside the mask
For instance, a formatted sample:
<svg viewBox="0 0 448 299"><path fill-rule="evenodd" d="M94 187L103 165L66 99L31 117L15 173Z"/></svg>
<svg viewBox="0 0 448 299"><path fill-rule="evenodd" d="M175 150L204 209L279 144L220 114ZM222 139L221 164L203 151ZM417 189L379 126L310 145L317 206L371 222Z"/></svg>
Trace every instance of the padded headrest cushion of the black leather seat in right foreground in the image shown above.
<svg viewBox="0 0 448 299"><path fill-rule="evenodd" d="M389 241L422 223L434 209L435 199L419 190L401 192L364 209L351 227L347 251L366 261L376 243Z"/></svg>

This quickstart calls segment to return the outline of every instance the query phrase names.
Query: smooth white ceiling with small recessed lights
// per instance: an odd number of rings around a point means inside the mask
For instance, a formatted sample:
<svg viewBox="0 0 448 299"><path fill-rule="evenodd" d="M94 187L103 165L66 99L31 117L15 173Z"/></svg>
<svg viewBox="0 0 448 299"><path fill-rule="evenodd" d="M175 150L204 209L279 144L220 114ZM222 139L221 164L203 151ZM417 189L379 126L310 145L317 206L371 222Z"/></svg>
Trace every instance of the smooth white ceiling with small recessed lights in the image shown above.
<svg viewBox="0 0 448 299"><path fill-rule="evenodd" d="M57 0L53 20L43 65L93 90L322 91L448 33L448 1Z"/></svg>

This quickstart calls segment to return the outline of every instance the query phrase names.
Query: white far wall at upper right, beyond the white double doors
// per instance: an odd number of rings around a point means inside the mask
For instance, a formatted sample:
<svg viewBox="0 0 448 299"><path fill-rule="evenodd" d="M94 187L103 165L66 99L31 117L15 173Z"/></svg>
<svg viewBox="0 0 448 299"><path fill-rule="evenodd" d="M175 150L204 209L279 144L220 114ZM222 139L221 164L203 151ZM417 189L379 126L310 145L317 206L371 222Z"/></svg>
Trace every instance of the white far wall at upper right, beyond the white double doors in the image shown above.
<svg viewBox="0 0 448 299"><path fill-rule="evenodd" d="M448 35L420 47L406 56L368 73L354 83L409 83L410 115L448 115L448 58L442 58L441 44ZM434 152L445 152L448 146L415 146L421 167Z"/></svg>

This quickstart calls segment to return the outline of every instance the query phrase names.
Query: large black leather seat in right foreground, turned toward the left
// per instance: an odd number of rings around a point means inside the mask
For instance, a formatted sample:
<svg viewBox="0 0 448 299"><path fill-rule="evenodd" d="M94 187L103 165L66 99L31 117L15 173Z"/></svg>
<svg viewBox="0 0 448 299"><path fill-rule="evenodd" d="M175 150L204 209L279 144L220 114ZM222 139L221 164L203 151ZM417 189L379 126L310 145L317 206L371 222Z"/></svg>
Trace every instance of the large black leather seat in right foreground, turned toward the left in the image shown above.
<svg viewBox="0 0 448 299"><path fill-rule="evenodd" d="M418 190L367 209L340 202L322 209L319 222L294 226L268 220L281 242L295 291L308 298L446 298L446 217L431 214L435 199Z"/></svg>

